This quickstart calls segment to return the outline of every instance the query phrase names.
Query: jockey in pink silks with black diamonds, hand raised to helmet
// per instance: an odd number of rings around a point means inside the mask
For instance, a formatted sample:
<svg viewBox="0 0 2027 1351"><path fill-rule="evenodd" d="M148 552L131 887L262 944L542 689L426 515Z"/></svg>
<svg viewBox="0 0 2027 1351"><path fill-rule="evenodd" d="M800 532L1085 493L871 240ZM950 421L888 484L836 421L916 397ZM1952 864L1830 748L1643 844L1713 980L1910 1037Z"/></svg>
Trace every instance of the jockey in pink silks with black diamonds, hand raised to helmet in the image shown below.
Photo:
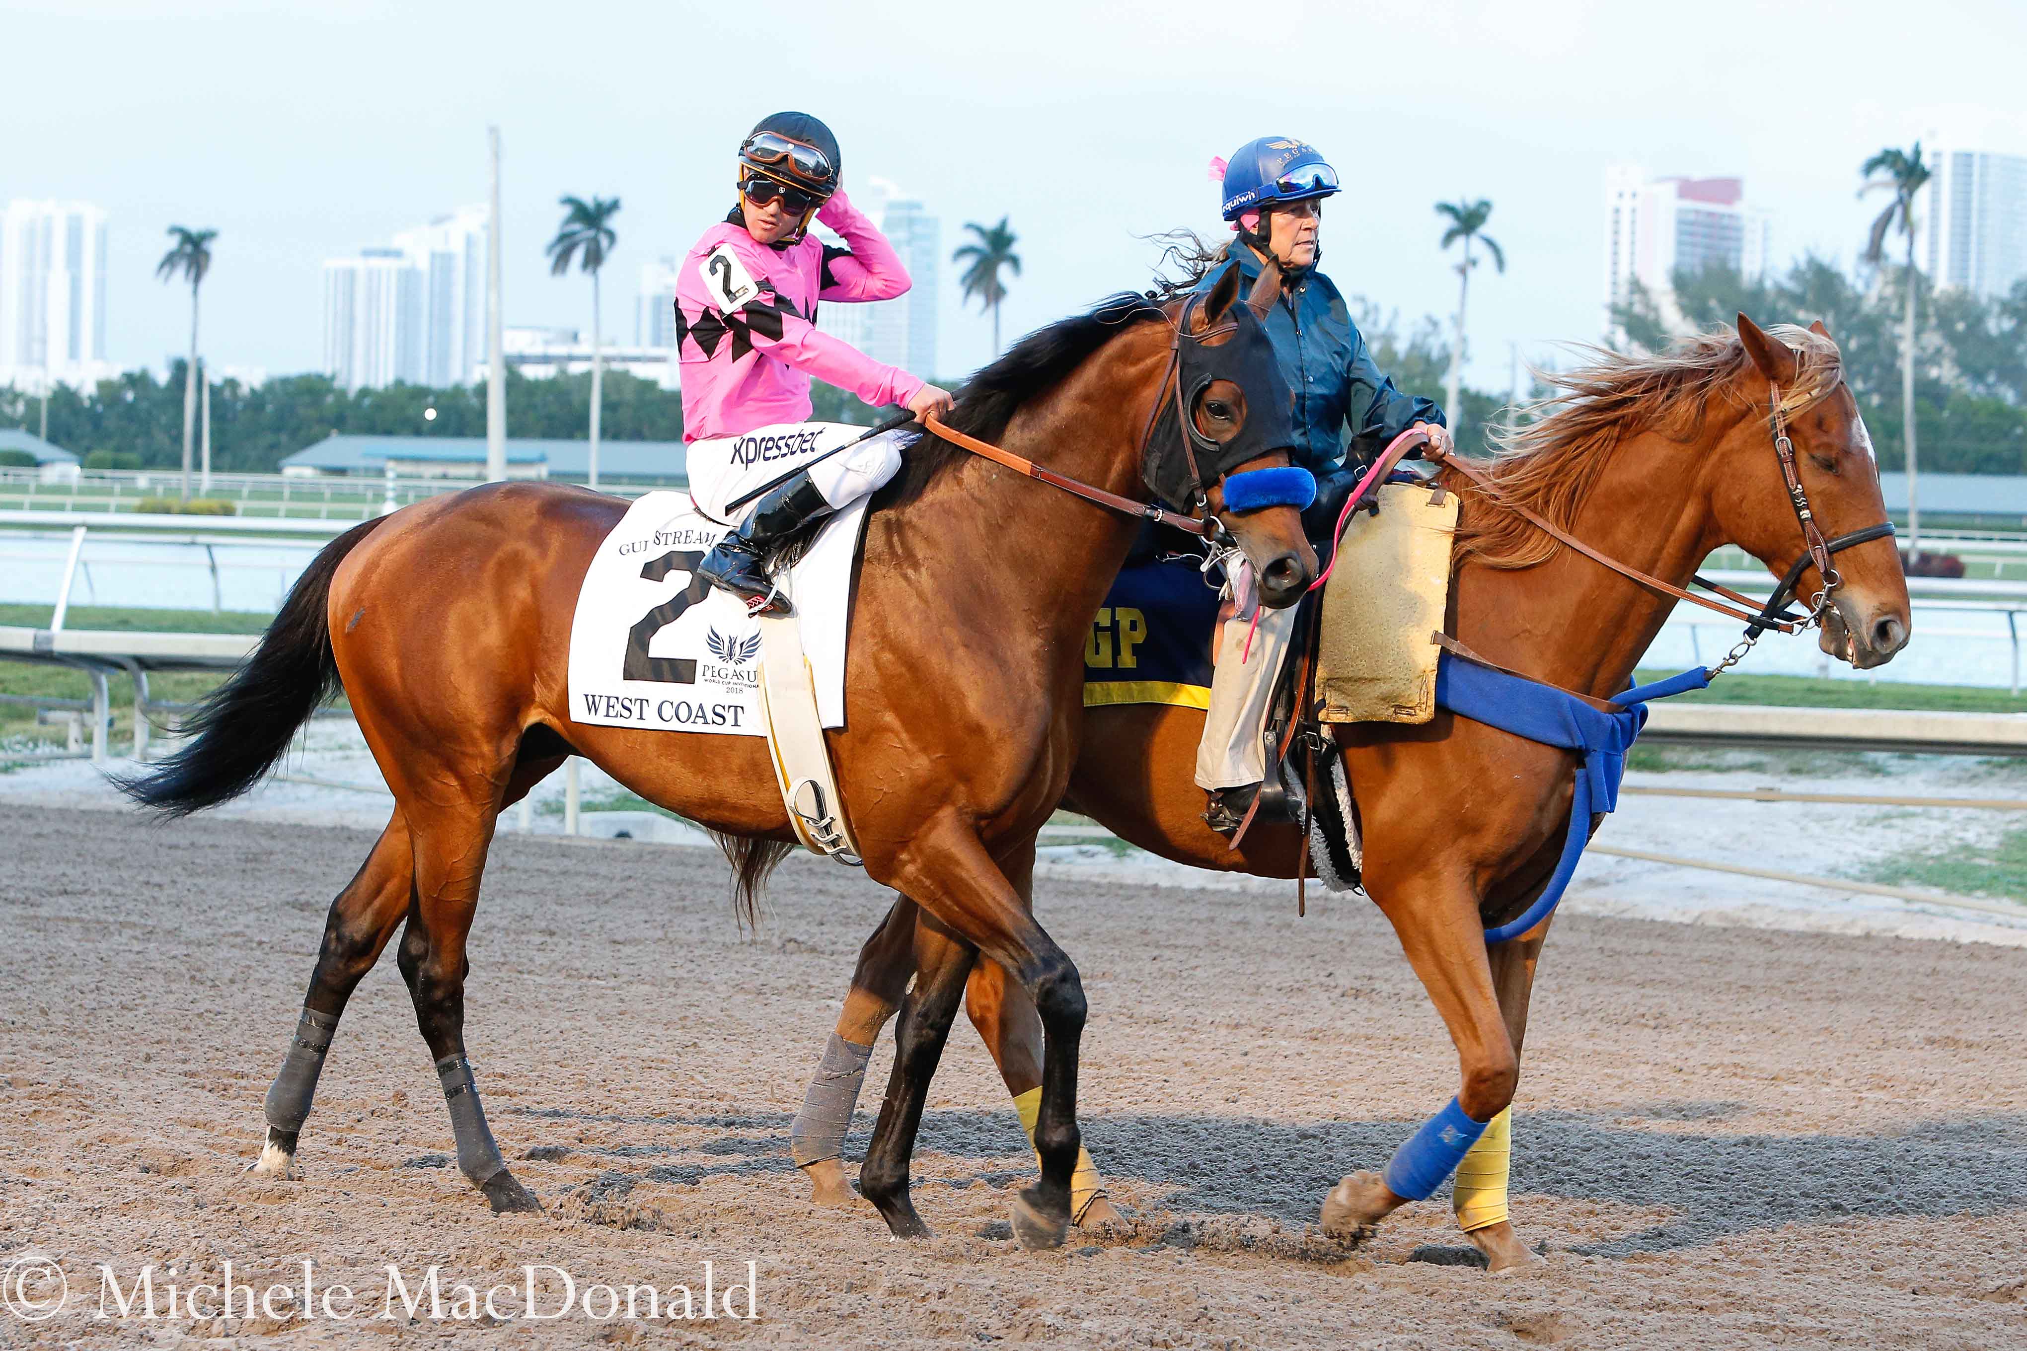
<svg viewBox="0 0 2027 1351"><path fill-rule="evenodd" d="M839 184L829 128L809 113L762 117L740 146L738 205L677 273L689 496L705 516L738 523L697 575L750 614L789 610L762 565L766 553L894 478L910 438L888 431L851 446L864 427L809 421L809 379L874 407L902 403L916 415L951 407L943 389L817 328L819 300L892 300L908 290L894 247ZM811 217L849 247L811 239Z"/></svg>

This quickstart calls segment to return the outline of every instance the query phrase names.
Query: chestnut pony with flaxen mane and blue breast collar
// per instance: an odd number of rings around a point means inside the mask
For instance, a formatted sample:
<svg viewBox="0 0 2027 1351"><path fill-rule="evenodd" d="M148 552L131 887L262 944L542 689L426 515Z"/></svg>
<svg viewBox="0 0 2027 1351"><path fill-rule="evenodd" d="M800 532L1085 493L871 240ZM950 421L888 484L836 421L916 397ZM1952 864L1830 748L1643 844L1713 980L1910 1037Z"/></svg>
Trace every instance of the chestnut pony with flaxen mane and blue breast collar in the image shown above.
<svg viewBox="0 0 2027 1351"><path fill-rule="evenodd" d="M1605 354L1551 379L1563 393L1538 409L1545 417L1508 435L1490 492L1455 470L1443 474L1463 494L1447 628L1508 668L1609 697L1626 689L1674 600L1559 547L1502 502L1528 506L1674 585L1688 585L1721 545L1739 545L1786 575L1804 539L1772 448L1778 397L1822 533L1836 539L1885 521L1871 440L1820 324L1768 334L1741 314L1737 336L1705 334L1654 359ZM1893 541L1841 551L1834 571L1841 583L1822 614L1822 650L1861 668L1889 660L1909 632ZM1798 593L1822 589L1808 567ZM1163 859L1293 877L1299 837L1291 826L1257 826L1234 851L1204 824L1204 796L1192 784L1202 723L1196 709L1088 709L1064 806ZM1553 871L1569 830L1573 756L1447 711L1423 727L1334 731L1364 826L1366 889L1449 1027L1459 1104L1490 1120L1518 1084L1549 920L1498 946L1484 942L1484 930L1518 916ZM1510 788L1488 796L1484 784ZM898 899L866 942L837 1021L843 1039L872 1043L916 964L947 954L941 936L916 932L916 913L908 897ZM939 978L932 970L918 976ZM981 962L967 995L1007 1088L1022 1094L1040 1084L1040 1027L1022 992ZM835 1161L809 1173L819 1201L849 1197ZM1354 1229L1401 1203L1376 1173L1358 1173L1332 1191L1324 1217ZM1494 1270L1532 1260L1504 1219L1470 1238Z"/></svg>

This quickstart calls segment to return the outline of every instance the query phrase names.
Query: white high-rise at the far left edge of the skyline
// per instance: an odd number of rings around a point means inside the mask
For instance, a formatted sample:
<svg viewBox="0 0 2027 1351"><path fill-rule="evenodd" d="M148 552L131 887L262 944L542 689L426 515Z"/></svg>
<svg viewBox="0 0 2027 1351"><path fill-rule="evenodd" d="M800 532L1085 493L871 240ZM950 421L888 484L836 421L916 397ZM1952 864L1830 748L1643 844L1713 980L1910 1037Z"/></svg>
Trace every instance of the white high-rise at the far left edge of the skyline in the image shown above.
<svg viewBox="0 0 2027 1351"><path fill-rule="evenodd" d="M0 213L0 383L47 389L105 375L105 213L89 203L8 203Z"/></svg>

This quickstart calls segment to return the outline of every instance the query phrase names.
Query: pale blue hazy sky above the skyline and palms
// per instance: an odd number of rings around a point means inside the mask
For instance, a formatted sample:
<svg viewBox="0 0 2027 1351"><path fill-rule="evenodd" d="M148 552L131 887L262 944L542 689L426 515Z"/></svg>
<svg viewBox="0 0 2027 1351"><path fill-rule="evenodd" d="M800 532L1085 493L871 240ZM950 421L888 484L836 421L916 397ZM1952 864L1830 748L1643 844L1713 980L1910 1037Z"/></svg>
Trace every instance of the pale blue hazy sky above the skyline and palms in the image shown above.
<svg viewBox="0 0 2027 1351"><path fill-rule="evenodd" d="M1601 178L1743 174L1776 257L1849 261L1875 209L1859 162L1962 128L2027 152L2027 4L168 4L0 0L0 198L103 207L109 356L182 350L186 292L152 277L170 223L215 227L215 367L316 369L320 263L486 190L505 140L507 322L590 322L547 275L561 192L624 198L608 334L632 340L643 261L681 253L732 194L762 113L843 142L847 188L900 182L943 219L1011 217L1020 334L1147 280L1137 235L1218 229L1212 154L1316 142L1348 180L1324 269L1403 318L1447 314L1437 198L1488 196L1508 271L1472 284L1472 379L1508 342L1593 338ZM957 377L991 326L943 277ZM1768 318L1768 316L1759 316ZM1806 318L1806 316L1772 316Z"/></svg>

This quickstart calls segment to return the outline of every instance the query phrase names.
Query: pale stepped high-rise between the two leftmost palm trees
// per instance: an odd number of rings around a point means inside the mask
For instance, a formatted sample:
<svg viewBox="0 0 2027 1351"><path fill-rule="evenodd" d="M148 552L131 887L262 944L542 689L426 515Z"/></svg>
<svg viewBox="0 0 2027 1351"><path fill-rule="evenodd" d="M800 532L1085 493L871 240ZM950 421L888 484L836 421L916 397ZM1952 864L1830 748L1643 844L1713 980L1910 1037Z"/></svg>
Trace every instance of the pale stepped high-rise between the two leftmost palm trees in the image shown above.
<svg viewBox="0 0 2027 1351"><path fill-rule="evenodd" d="M466 385L486 359L486 209L324 261L324 371L345 389Z"/></svg>

